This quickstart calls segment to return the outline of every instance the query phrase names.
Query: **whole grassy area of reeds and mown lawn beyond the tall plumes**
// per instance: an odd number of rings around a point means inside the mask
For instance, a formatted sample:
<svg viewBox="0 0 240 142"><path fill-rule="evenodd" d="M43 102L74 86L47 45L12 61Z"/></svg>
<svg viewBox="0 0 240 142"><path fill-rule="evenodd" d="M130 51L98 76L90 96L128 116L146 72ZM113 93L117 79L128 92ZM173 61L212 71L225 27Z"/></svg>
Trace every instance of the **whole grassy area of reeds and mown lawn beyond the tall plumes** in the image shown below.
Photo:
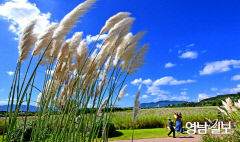
<svg viewBox="0 0 240 142"><path fill-rule="evenodd" d="M172 117L175 112L182 112L183 123L186 122L204 122L205 118L211 120L217 117L216 107L187 107L187 108L155 108L142 109L140 117L136 122L134 130L134 139L161 138L167 137L169 132L167 127L167 117ZM21 121L19 117L18 121ZM30 119L35 119L30 116ZM129 140L132 136L132 110L113 113L112 123L117 129L116 136L109 138L112 140ZM4 127L4 119L0 119L0 128ZM0 134L0 141L1 141Z"/></svg>

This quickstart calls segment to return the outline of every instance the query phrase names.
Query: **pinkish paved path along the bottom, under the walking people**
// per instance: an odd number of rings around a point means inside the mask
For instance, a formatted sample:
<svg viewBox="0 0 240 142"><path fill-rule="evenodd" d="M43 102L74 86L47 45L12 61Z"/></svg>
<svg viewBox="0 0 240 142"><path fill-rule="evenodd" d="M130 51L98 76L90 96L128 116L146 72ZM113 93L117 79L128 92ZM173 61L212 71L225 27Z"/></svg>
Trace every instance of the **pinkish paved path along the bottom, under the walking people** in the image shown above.
<svg viewBox="0 0 240 142"><path fill-rule="evenodd" d="M167 137L167 138L153 138L153 139L140 139L134 140L134 142L200 142L200 135L193 136L180 136L177 138ZM120 141L111 141L111 142L131 142L131 140L120 140Z"/></svg>

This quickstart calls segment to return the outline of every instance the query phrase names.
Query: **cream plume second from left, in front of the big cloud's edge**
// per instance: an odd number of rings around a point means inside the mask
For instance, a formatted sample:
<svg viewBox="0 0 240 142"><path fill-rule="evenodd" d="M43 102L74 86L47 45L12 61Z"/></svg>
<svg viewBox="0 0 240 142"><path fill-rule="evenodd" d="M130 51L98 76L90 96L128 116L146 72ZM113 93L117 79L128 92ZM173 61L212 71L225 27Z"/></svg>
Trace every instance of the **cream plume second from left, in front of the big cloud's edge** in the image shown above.
<svg viewBox="0 0 240 142"><path fill-rule="evenodd" d="M35 48L33 49L32 55L37 56L41 53L42 49L46 48L52 40L52 35L54 30L57 28L58 24L51 24L46 31L44 31L38 38Z"/></svg>

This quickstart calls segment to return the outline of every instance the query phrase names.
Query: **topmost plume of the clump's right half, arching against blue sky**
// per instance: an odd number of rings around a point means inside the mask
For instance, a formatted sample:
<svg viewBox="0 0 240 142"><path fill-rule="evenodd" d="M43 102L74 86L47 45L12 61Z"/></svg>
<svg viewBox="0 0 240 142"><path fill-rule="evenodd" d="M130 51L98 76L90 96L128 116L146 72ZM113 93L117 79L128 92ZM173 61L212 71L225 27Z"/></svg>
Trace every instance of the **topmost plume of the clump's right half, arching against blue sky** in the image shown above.
<svg viewBox="0 0 240 142"><path fill-rule="evenodd" d="M100 31L100 34L105 33L106 31L108 31L110 28L112 28L116 23L118 23L119 21L121 21L123 18L126 18L130 15L131 13L129 12L119 12L116 15L113 15L112 17L110 17L105 25L103 26L103 28Z"/></svg>

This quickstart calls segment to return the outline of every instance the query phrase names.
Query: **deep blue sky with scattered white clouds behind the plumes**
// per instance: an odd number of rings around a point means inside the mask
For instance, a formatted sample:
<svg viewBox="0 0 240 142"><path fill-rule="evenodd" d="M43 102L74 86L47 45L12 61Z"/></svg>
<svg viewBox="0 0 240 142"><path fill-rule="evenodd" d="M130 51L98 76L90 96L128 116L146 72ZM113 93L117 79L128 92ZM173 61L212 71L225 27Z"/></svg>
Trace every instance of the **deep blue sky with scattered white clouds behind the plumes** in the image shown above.
<svg viewBox="0 0 240 142"><path fill-rule="evenodd" d="M25 23L39 16L40 32L82 1L0 1L0 104L7 100L18 58L17 37ZM120 106L133 104L140 83L141 102L198 101L240 92L240 1L99 0L70 35L83 31L91 39L120 11L132 13L136 21L131 31L148 31L142 42L150 43L147 62L128 78Z"/></svg>

